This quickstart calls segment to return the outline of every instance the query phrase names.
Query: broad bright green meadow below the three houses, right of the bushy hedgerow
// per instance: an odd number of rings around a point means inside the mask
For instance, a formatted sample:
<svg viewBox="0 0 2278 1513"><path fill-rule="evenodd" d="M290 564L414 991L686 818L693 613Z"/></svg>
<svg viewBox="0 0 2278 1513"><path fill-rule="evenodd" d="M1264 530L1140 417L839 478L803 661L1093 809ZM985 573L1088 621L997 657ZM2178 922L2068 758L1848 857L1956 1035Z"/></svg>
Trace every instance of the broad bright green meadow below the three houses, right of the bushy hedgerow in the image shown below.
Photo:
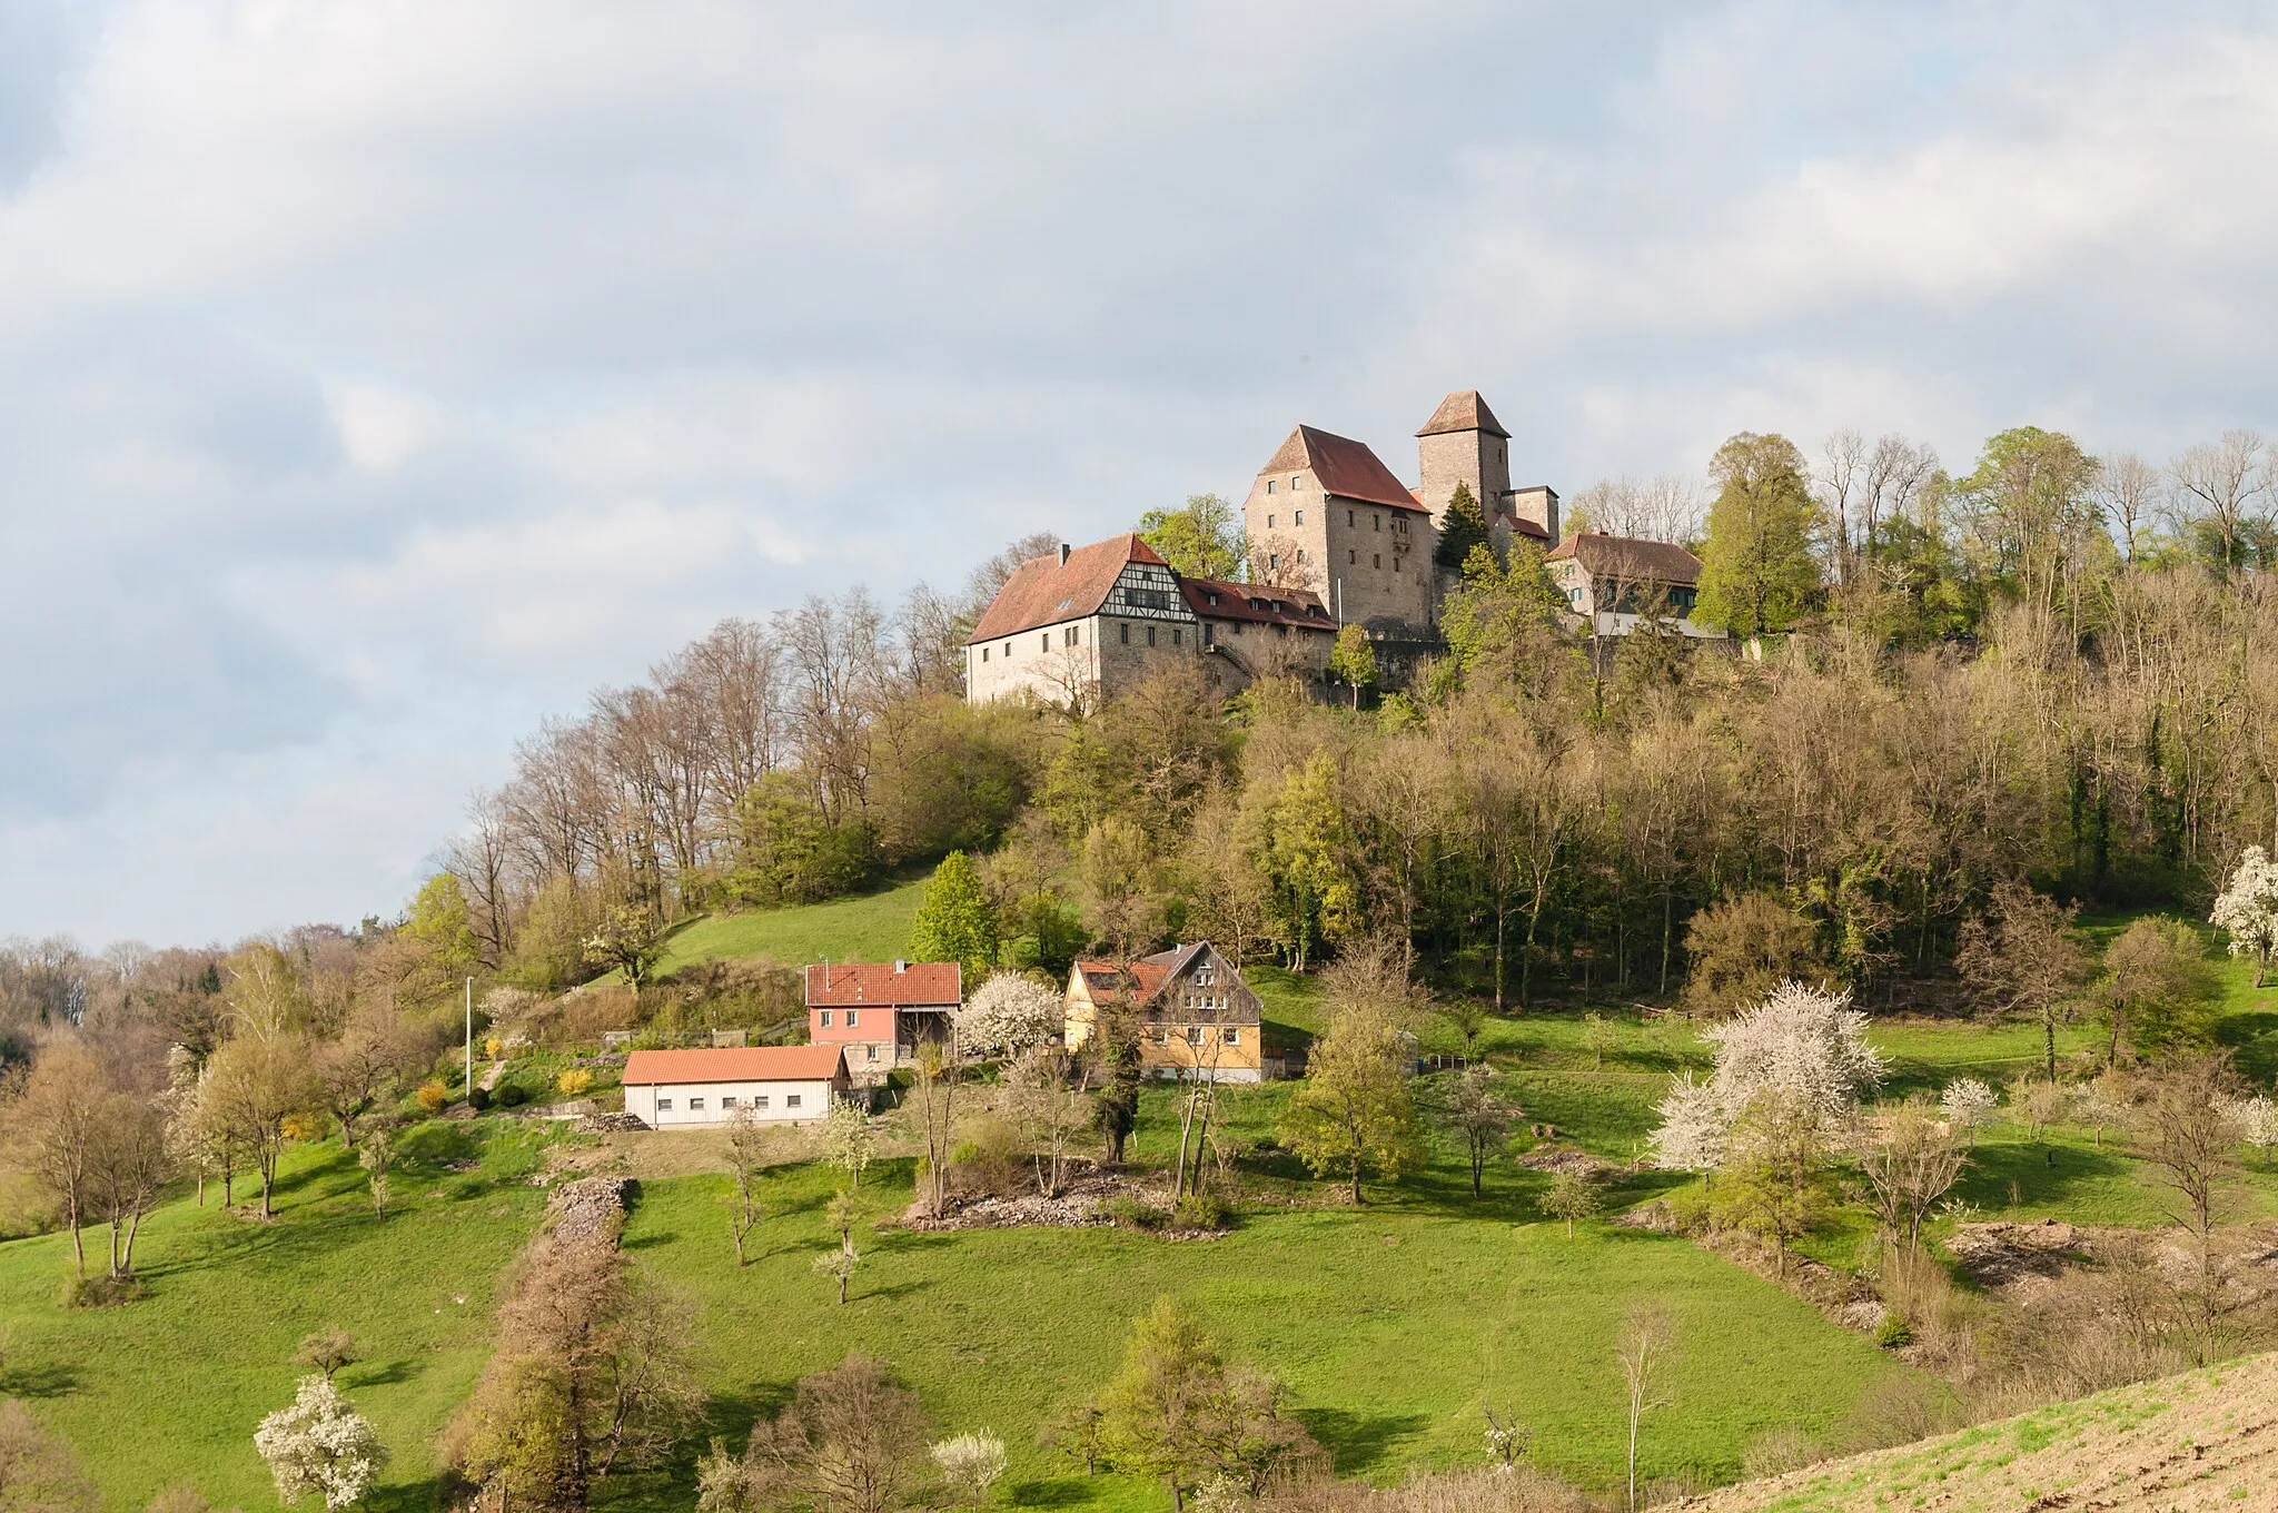
<svg viewBox="0 0 2278 1513"><path fill-rule="evenodd" d="M1164 1292L1201 1308L1235 1356L1283 1376L1344 1472L1474 1458L1481 1404L1510 1401L1540 1429L1547 1463L1611 1479L1611 1347L1622 1310L1640 1299L1665 1301L1686 1340L1674 1390L1688 1410L1649 1445L1654 1474L1731 1477L1752 1433L1827 1426L1898 1369L1681 1240L1606 1228L1567 1240L1533 1221L1531 1185L1506 1176L1472 1205L1442 1167L1369 1210L1262 1215L1216 1242L888 1230L863 1244L847 1308L811 1271L829 1242L822 1171L777 1178L759 1260L743 1274L729 1256L722 1178L647 1183L626 1242L702 1299L706 1379L729 1429L777 1404L797 1374L866 1349L900 1367L945 1429L1002 1433L1014 1499L1030 1506L1160 1504L1153 1488L1073 1474L1036 1436L1114 1372L1130 1319ZM866 1192L875 1212L898 1212L909 1164ZM686 1472L674 1486L688 1486ZM652 1483L624 1502L661 1495Z"/></svg>

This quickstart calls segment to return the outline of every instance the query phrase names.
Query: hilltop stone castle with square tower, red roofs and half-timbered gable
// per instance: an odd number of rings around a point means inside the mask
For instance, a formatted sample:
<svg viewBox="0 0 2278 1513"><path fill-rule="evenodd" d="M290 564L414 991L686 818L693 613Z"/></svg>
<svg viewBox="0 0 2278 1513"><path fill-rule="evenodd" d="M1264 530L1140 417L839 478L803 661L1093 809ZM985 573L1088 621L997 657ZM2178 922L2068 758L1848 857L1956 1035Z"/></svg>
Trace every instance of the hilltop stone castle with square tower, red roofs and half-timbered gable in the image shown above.
<svg viewBox="0 0 2278 1513"><path fill-rule="evenodd" d="M1139 535L1023 563L966 640L966 697L1082 700L1137 681L1166 656L1203 659L1228 693L1267 672L1321 684L1344 624L1362 627L1394 661L1424 652L1453 583L1435 551L1460 488L1478 501L1499 554L1515 538L1549 551L1576 613L1620 608L1617 592L1599 592L1615 586L1592 581L1604 570L1585 570L1572 542L1560 542L1558 494L1510 485L1510 433L1476 390L1462 390L1417 431L1415 488L1367 442L1292 431L1242 501L1251 583L1185 576ZM1688 574L1677 558L1693 561L1663 547L1656 572L1681 581L1690 604L1697 563Z"/></svg>

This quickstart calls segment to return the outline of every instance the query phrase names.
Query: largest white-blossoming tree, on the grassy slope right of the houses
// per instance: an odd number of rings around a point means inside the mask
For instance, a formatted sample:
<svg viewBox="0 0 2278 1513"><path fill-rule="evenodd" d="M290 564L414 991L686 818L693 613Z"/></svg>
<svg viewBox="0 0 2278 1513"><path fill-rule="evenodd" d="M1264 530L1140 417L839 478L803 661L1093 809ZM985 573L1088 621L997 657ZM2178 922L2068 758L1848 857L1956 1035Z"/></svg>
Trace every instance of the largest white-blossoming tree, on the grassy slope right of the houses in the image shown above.
<svg viewBox="0 0 2278 1513"><path fill-rule="evenodd" d="M1882 1078L1882 1053L1866 1044L1866 1014L1850 991L1827 993L1784 982L1738 1019L1708 1030L1715 1073L1670 1078L1654 1130L1654 1160L1706 1171L1727 1155L1731 1126L1750 1098L1777 1091L1813 1110L1829 1128Z"/></svg>

